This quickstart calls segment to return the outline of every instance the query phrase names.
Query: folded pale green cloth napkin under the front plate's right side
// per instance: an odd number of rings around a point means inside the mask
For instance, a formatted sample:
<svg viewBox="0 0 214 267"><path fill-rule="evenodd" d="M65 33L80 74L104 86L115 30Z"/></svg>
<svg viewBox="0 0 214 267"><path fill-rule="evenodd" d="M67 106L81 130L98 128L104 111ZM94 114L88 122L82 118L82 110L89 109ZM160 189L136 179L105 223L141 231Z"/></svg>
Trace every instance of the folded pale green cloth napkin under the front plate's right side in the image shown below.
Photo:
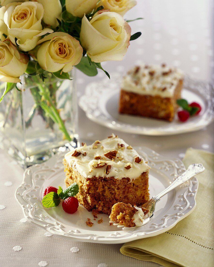
<svg viewBox="0 0 214 267"><path fill-rule="evenodd" d="M124 244L120 252L142 261L163 266L214 266L214 154L188 148L183 163L202 163L197 175L199 189L195 210L169 231Z"/></svg>

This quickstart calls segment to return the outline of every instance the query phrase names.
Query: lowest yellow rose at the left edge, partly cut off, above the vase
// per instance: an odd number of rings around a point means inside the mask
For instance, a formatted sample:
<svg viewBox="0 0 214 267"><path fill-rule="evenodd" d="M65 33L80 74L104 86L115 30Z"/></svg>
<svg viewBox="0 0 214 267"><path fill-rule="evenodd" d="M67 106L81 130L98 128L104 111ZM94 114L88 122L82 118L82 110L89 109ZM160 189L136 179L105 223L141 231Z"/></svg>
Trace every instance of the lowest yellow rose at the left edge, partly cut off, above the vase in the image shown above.
<svg viewBox="0 0 214 267"><path fill-rule="evenodd" d="M27 69L28 56L20 54L9 41L0 41L0 81L18 83Z"/></svg>

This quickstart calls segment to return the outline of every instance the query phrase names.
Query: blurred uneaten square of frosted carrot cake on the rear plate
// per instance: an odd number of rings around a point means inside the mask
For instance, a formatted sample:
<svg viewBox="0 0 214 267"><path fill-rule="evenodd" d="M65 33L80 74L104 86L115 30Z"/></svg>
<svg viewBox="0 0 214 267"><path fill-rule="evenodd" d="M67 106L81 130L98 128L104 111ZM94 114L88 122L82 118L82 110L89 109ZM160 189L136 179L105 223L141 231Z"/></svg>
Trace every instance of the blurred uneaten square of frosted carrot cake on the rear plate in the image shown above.
<svg viewBox="0 0 214 267"><path fill-rule="evenodd" d="M122 80L119 112L172 121L182 88L183 72L175 67L136 66Z"/></svg>

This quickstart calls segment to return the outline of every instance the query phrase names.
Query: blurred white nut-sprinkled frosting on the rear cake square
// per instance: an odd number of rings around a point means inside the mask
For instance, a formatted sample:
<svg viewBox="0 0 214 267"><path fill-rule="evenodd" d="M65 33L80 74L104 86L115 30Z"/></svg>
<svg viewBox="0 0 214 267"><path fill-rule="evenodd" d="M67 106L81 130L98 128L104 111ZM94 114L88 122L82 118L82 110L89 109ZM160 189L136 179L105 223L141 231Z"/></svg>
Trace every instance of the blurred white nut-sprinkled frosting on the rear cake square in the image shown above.
<svg viewBox="0 0 214 267"><path fill-rule="evenodd" d="M132 68L123 78L121 89L141 95L172 97L183 72L175 67L141 65Z"/></svg>

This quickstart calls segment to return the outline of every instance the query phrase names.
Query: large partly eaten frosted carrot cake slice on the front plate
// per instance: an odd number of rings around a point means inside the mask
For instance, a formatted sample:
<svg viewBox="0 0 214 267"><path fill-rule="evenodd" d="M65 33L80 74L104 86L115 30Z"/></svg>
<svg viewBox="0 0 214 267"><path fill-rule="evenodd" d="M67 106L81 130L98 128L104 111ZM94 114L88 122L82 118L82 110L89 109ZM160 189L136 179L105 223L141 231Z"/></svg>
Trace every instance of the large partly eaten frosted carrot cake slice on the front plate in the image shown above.
<svg viewBox="0 0 214 267"><path fill-rule="evenodd" d="M150 167L114 134L68 152L64 166L66 186L79 185L76 197L88 211L110 215L117 202L139 206L149 200Z"/></svg>

